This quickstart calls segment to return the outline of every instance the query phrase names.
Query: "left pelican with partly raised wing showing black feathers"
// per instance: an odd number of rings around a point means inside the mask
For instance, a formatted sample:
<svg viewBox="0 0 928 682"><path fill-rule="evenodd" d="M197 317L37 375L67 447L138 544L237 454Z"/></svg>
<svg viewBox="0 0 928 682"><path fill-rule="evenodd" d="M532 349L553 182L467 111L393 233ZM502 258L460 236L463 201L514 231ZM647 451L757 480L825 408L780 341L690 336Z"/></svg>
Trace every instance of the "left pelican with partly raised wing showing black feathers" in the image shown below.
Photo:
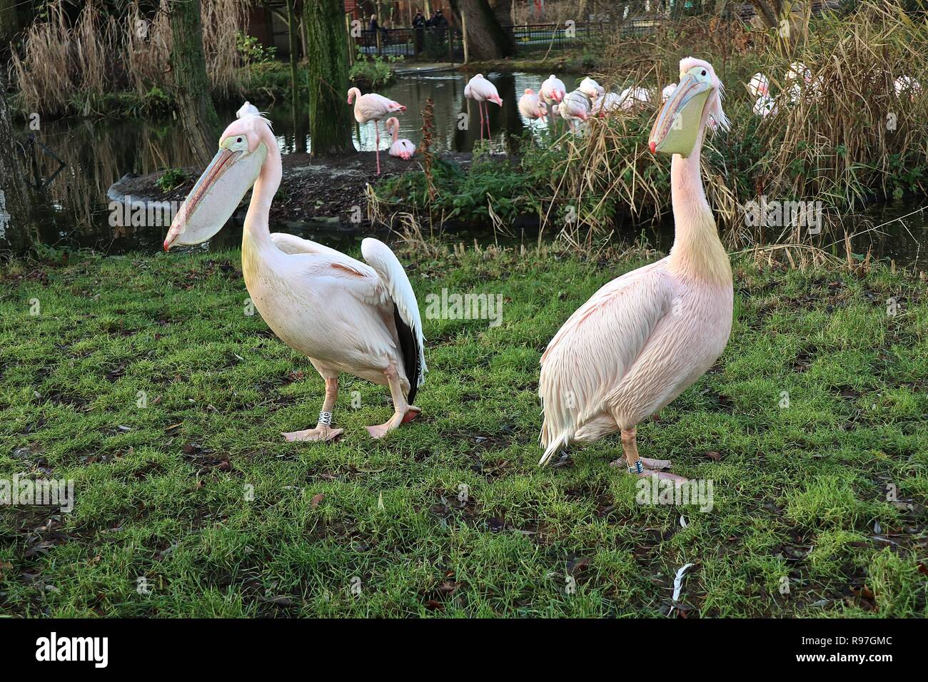
<svg viewBox="0 0 928 682"><path fill-rule="evenodd" d="M382 438L420 412L411 405L426 372L416 294L403 265L377 239L361 242L365 264L308 239L271 234L268 213L281 170L270 123L246 102L174 216L164 249L212 238L253 186L241 243L245 286L277 338L306 355L326 382L316 428L282 435L288 441L339 436L332 409L346 372L390 387L393 417L367 427Z"/></svg>

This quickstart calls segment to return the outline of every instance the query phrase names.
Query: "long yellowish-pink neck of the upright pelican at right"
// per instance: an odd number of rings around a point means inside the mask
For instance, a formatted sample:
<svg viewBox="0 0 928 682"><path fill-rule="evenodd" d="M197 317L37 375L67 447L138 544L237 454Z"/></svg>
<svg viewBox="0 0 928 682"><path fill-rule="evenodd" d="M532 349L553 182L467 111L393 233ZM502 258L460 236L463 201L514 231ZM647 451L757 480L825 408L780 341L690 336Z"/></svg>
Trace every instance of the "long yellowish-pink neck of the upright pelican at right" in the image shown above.
<svg viewBox="0 0 928 682"><path fill-rule="evenodd" d="M677 274L712 284L731 284L728 253L718 238L715 217L705 199L700 174L702 135L689 157L674 154L670 192L674 207L674 246L670 267Z"/></svg>

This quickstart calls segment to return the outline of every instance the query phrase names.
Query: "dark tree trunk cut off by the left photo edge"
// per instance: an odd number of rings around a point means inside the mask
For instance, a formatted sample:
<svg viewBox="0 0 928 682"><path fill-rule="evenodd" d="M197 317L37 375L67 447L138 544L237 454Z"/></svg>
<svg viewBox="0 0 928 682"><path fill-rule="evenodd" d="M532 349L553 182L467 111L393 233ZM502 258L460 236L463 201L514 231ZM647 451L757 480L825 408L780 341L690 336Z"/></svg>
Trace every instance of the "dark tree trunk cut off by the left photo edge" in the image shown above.
<svg viewBox="0 0 928 682"><path fill-rule="evenodd" d="M0 254L32 248L29 194L22 146L13 135L6 109L6 81L0 72Z"/></svg>

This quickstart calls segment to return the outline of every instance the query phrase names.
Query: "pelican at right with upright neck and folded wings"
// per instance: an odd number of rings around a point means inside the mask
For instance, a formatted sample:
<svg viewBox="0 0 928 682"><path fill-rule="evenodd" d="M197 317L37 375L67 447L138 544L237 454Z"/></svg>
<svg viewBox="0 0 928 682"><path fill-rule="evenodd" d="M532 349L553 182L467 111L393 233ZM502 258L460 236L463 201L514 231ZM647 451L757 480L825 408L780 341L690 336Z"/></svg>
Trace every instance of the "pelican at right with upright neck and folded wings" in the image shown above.
<svg viewBox="0 0 928 682"><path fill-rule="evenodd" d="M673 154L674 246L602 287L548 343L538 384L545 413L539 465L564 445L621 431L629 473L684 480L661 471L669 461L638 457L636 427L699 379L731 332L731 264L700 174L710 116L728 127L722 84L708 62L685 58L649 138L652 153Z"/></svg>

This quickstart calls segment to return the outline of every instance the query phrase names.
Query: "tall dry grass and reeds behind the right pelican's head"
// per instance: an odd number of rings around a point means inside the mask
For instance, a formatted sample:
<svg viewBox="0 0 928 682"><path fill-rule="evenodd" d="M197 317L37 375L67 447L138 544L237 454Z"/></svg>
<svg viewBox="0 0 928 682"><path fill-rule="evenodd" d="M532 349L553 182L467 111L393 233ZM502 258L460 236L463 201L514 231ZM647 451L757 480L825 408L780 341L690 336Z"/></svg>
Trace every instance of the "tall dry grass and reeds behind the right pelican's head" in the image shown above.
<svg viewBox="0 0 928 682"><path fill-rule="evenodd" d="M614 66L600 84L659 93L677 81L680 58L712 62L727 86L728 134L710 136L702 153L706 192L731 246L758 240L806 240L801 226L778 232L745 220L745 205L762 197L821 201L826 231L841 234L844 212L887 196L928 189L928 26L893 3L862 3L846 17L811 19L792 44L740 22L690 19L639 41L612 48ZM786 74L794 61L813 84L791 97ZM767 74L778 113L754 114L746 84ZM896 78L922 84L901 96ZM794 101L793 101L794 99ZM632 112L593 122L586 135L561 139L563 155L551 173L548 218L573 207L565 238L588 243L612 229L616 214L633 220L670 210L669 174L647 146L660 97ZM892 122L892 123L891 123ZM895 125L895 128L894 128ZM557 225L565 225L560 219Z"/></svg>

